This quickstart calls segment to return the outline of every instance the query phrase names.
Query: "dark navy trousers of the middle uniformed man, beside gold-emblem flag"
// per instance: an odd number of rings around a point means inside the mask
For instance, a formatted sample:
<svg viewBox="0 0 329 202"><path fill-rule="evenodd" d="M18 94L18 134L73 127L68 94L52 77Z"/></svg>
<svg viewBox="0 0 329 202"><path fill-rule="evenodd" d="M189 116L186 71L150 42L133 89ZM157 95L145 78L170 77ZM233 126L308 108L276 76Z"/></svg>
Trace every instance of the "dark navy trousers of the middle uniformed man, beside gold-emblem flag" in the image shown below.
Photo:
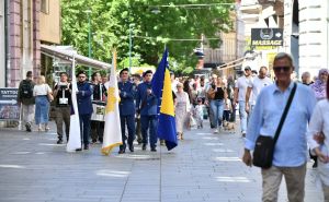
<svg viewBox="0 0 329 202"><path fill-rule="evenodd" d="M120 116L121 132L122 132L122 145L121 148L126 148L126 124L128 129L128 145L133 145L135 140L135 115Z"/></svg>

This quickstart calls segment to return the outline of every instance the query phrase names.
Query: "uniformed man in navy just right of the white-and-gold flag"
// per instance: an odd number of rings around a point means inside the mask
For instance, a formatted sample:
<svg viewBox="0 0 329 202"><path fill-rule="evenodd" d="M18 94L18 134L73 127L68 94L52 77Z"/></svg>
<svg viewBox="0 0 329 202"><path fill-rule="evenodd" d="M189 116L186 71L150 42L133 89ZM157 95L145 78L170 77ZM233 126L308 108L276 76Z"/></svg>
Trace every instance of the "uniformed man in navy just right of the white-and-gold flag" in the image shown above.
<svg viewBox="0 0 329 202"><path fill-rule="evenodd" d="M118 154L125 153L126 150L126 126L128 129L128 147L131 152L134 152L134 140L135 140L135 85L129 81L128 69L125 68L120 72L121 81L117 83L120 93L120 119L121 119L121 131L122 142Z"/></svg>

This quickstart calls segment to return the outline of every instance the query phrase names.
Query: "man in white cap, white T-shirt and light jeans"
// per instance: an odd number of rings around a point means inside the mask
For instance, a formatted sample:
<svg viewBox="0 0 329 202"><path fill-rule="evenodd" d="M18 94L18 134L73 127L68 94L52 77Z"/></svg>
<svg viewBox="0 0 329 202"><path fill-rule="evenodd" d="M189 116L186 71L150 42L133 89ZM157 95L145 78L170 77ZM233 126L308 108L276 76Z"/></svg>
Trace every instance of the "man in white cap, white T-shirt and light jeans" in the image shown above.
<svg viewBox="0 0 329 202"><path fill-rule="evenodd" d="M248 114L245 110L246 107L246 92L248 84L252 81L251 76L251 68L246 67L245 68L245 75L239 78L236 86L235 86L235 98L234 98L234 104L239 104L239 116L240 116L240 129L242 136L246 136L246 131L247 131L247 119L248 119Z"/></svg>

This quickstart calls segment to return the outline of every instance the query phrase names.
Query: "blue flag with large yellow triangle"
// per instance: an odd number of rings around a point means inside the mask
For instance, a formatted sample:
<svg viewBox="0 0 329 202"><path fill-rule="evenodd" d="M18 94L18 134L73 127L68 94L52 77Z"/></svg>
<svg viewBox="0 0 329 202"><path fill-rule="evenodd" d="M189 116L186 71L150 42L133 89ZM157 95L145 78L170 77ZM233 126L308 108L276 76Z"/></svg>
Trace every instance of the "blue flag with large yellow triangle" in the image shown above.
<svg viewBox="0 0 329 202"><path fill-rule="evenodd" d="M166 49L152 78L152 92L158 97L158 138L166 141L168 151L178 145L174 106L171 91L170 72L168 70L168 50Z"/></svg>

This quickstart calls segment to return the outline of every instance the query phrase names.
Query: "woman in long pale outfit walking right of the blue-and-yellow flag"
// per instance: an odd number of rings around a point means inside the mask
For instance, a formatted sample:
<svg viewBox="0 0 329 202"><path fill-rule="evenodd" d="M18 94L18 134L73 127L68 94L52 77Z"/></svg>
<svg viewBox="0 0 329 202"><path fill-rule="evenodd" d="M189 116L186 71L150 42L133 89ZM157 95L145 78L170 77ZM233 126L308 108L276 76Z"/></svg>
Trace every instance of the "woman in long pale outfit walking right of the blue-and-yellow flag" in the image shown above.
<svg viewBox="0 0 329 202"><path fill-rule="evenodd" d="M183 91L183 84L178 83L177 84L177 93L175 93L175 127L177 127L177 133L178 139L183 140L183 130L184 130L184 123L189 121L190 110L191 110L191 104L189 94Z"/></svg>

